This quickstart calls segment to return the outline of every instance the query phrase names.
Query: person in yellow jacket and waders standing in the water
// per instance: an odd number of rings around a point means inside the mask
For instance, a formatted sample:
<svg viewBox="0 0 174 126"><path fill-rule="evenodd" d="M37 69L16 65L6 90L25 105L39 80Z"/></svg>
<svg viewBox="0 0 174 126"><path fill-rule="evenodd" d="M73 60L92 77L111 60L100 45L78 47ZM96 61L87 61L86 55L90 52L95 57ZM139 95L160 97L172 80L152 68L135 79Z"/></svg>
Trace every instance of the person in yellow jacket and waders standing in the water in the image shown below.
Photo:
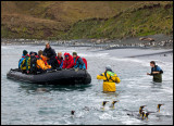
<svg viewBox="0 0 174 126"><path fill-rule="evenodd" d="M97 79L103 79L103 91L114 92L116 91L115 83L119 84L121 80L117 75L112 71L111 66L105 67L105 72L97 75Z"/></svg>

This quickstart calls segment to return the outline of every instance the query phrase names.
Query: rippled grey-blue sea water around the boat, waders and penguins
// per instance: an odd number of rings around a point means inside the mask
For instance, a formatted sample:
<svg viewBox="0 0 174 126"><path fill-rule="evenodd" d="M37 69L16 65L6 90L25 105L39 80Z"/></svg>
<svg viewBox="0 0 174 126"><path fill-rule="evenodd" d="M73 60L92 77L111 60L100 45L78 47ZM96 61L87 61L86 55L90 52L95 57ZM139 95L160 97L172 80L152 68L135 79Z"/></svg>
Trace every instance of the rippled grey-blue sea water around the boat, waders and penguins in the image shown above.
<svg viewBox="0 0 174 126"><path fill-rule="evenodd" d="M115 49L98 51L85 47L52 48L58 52L76 51L88 62L91 84L87 86L53 86L35 85L14 81L7 78L10 68L16 68L23 50L44 50L45 46L2 46L1 47L1 121L2 124L37 124L37 125L151 125L173 124L173 53L142 58L127 58L142 53L164 50ZM164 71L161 84L152 83L149 62L154 60ZM104 72L105 65L121 78L116 84L116 92L103 93L102 80L96 76ZM115 108L109 108L112 101ZM101 109L102 101L109 101ZM160 113L151 113L149 119L139 118L140 105L147 111L157 111L162 103ZM71 111L75 111L74 116ZM130 114L132 116L127 115Z"/></svg>

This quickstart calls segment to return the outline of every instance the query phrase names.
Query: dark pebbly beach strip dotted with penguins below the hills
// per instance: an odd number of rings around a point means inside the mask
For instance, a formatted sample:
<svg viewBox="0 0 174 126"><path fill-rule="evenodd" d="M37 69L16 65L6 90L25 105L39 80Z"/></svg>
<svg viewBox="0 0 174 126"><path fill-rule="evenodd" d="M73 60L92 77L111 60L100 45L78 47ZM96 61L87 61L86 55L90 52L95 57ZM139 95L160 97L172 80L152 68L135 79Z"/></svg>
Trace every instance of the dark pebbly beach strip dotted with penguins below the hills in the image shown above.
<svg viewBox="0 0 174 126"><path fill-rule="evenodd" d="M95 47L102 49L116 48L164 48L173 49L173 36L153 35L127 39L77 39L77 40L36 40L36 39L4 39L1 45L45 45L67 47Z"/></svg>

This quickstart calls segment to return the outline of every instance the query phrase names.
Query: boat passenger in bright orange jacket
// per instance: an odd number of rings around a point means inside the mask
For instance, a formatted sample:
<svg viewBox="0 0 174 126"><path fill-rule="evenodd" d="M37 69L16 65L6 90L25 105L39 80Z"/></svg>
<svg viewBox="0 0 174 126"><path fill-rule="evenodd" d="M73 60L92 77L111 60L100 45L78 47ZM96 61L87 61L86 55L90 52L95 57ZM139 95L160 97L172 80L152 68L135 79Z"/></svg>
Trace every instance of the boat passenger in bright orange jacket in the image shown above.
<svg viewBox="0 0 174 126"><path fill-rule="evenodd" d="M37 68L39 72L45 72L45 71L51 70L51 66L42 60L42 51L41 50L38 51L38 59L37 59L36 64L37 64Z"/></svg>

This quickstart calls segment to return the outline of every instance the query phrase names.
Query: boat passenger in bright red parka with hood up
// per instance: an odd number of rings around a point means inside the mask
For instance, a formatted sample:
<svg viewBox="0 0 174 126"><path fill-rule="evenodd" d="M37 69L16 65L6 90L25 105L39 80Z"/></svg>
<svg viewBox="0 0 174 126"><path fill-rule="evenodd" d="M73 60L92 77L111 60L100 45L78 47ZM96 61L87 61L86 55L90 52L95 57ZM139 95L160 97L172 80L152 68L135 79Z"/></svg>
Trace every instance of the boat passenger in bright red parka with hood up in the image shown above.
<svg viewBox="0 0 174 126"><path fill-rule="evenodd" d="M74 60L73 56L70 53L64 53L64 61L63 61L63 67L62 68L73 68L74 67Z"/></svg>

